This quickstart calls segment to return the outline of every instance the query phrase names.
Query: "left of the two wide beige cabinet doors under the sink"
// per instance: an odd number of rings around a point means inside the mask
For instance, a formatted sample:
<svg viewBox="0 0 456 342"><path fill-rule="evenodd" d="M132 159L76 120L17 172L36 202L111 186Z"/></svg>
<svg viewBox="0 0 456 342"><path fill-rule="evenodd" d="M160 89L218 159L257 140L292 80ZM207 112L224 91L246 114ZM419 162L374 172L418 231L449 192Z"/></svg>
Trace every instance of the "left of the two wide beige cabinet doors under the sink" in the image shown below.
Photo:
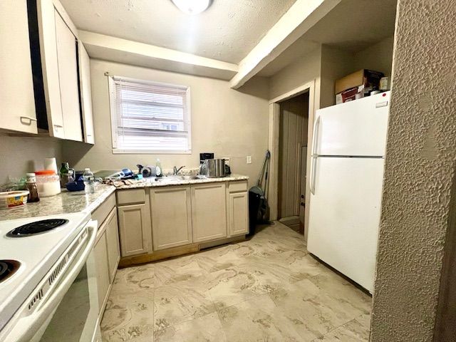
<svg viewBox="0 0 456 342"><path fill-rule="evenodd" d="M152 241L155 251L192 243L190 187L150 190Z"/></svg>

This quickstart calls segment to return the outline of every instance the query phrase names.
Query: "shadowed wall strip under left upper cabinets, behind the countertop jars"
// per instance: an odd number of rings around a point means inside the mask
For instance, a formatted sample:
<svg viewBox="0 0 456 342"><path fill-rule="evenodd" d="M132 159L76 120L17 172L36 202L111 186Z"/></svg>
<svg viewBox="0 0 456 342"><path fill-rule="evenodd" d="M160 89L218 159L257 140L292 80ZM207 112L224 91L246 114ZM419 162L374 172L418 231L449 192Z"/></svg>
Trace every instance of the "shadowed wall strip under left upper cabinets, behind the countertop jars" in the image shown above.
<svg viewBox="0 0 456 342"><path fill-rule="evenodd" d="M8 182L10 176L25 177L26 172L42 170L47 157L62 161L61 140L0 134L0 184Z"/></svg>

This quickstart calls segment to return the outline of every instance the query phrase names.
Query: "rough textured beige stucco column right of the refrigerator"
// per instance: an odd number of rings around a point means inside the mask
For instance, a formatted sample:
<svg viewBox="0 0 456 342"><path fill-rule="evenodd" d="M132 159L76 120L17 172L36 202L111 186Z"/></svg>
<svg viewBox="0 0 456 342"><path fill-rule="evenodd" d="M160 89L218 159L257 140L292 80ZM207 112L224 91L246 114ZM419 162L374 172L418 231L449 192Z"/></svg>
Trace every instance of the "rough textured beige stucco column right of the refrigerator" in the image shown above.
<svg viewBox="0 0 456 342"><path fill-rule="evenodd" d="M373 342L432 341L456 195L456 1L398 0L397 15Z"/></svg>

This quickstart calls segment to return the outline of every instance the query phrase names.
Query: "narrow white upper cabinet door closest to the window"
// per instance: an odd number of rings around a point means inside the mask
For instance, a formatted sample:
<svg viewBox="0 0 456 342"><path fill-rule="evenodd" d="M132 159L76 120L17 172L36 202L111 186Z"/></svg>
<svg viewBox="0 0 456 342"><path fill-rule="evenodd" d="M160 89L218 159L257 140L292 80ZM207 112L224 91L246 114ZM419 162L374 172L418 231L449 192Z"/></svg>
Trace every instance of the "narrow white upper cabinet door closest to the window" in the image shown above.
<svg viewBox="0 0 456 342"><path fill-rule="evenodd" d="M94 144L95 136L93 133L92 88L90 86L90 58L88 57L86 48L84 48L81 41L78 42L78 52L84 142Z"/></svg>

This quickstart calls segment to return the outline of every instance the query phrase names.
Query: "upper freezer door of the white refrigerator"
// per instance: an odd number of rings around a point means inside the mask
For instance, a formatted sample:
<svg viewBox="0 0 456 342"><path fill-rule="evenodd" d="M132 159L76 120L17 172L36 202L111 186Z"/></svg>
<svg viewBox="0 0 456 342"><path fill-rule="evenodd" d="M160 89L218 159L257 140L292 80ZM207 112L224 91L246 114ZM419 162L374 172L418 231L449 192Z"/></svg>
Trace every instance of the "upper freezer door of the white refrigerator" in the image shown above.
<svg viewBox="0 0 456 342"><path fill-rule="evenodd" d="M317 110L313 155L384 156L390 92Z"/></svg>

